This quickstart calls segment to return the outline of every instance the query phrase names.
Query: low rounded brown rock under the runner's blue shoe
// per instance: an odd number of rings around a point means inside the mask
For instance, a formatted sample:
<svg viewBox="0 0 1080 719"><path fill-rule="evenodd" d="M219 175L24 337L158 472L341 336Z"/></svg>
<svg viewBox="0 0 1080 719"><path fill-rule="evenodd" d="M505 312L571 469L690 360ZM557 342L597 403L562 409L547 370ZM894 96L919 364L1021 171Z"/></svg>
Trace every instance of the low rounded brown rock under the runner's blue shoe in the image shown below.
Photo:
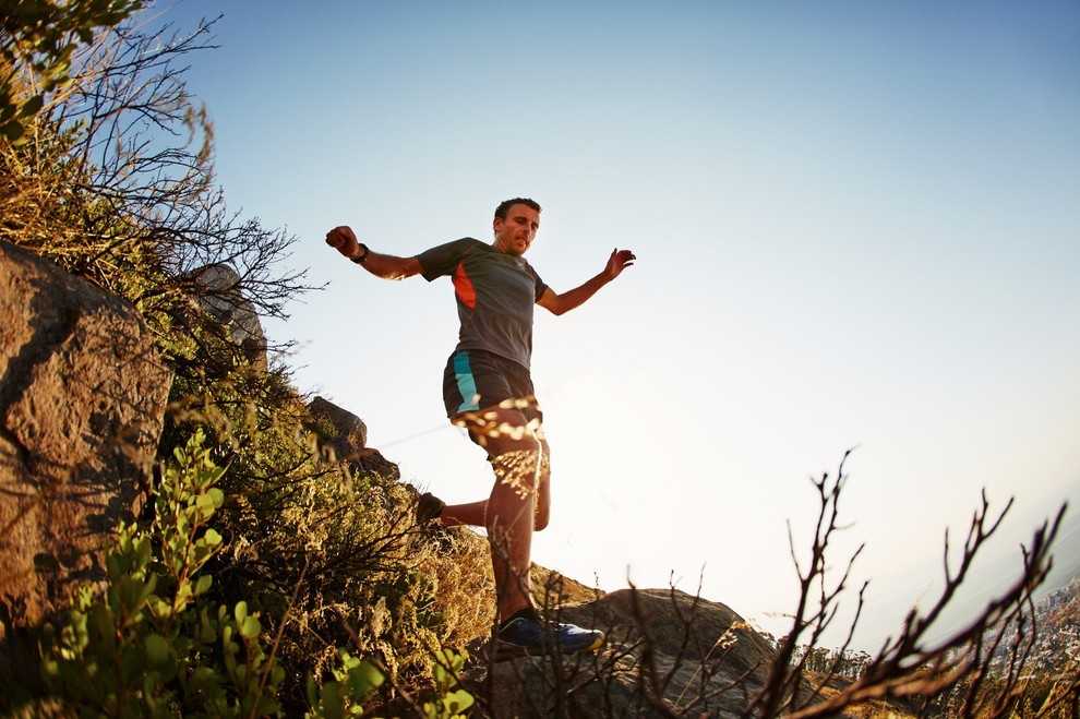
<svg viewBox="0 0 1080 719"><path fill-rule="evenodd" d="M672 589L620 590L560 620L603 630L605 646L481 667L466 684L485 715L739 717L775 655L724 604Z"/></svg>

